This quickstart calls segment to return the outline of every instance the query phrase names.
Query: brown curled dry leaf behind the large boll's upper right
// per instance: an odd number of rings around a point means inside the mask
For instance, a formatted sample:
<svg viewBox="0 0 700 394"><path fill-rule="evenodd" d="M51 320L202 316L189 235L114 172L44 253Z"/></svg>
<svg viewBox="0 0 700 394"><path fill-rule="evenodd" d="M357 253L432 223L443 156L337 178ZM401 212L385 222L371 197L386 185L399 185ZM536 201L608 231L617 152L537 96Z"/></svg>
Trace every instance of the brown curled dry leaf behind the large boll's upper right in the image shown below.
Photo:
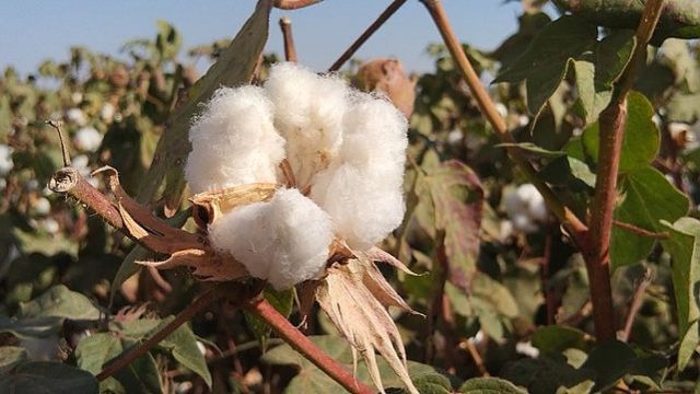
<svg viewBox="0 0 700 394"><path fill-rule="evenodd" d="M410 118L416 102L416 81L404 72L397 59L378 58L360 66L355 83L364 91L385 93L392 103Z"/></svg>

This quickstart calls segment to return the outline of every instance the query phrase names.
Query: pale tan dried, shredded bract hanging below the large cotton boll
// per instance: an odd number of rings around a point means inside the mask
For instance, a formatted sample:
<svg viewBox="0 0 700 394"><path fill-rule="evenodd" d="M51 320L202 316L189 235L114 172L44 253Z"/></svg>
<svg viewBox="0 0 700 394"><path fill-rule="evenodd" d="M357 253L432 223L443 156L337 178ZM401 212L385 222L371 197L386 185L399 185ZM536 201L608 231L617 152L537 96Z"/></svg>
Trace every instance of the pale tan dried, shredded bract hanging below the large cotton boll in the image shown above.
<svg viewBox="0 0 700 394"><path fill-rule="evenodd" d="M313 283L316 300L342 336L360 351L370 376L384 392L375 351L384 357L410 393L418 394L408 374L404 341L387 308L415 313L384 279L374 262L357 253L347 264L334 264L327 276ZM364 322L364 324L358 324ZM353 354L354 356L354 354Z"/></svg>

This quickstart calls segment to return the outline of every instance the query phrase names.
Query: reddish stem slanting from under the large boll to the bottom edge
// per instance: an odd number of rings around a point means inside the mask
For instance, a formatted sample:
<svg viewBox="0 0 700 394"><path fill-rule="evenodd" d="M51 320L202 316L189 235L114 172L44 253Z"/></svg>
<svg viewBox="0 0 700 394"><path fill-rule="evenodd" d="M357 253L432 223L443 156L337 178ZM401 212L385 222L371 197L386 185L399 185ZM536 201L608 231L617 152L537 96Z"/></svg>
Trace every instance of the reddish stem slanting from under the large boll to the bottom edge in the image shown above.
<svg viewBox="0 0 700 394"><path fill-rule="evenodd" d="M308 337L296 329L284 316L264 299L246 302L242 305L246 311L262 318L294 350L303 355L320 370L351 393L370 394L374 391L358 381L338 361L314 345Z"/></svg>

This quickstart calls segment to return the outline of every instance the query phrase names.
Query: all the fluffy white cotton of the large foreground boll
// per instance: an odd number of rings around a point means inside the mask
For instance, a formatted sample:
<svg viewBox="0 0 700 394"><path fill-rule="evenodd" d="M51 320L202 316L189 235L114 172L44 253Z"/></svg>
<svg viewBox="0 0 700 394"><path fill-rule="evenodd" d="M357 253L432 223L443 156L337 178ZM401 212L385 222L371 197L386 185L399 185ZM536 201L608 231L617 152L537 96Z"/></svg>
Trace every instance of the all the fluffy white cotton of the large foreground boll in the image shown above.
<svg viewBox="0 0 700 394"><path fill-rule="evenodd" d="M194 193L283 184L287 159L295 188L208 229L214 248L285 289L323 273L335 235L365 251L400 224L407 128L384 97L279 63L264 88L215 92L191 126L185 176Z"/></svg>

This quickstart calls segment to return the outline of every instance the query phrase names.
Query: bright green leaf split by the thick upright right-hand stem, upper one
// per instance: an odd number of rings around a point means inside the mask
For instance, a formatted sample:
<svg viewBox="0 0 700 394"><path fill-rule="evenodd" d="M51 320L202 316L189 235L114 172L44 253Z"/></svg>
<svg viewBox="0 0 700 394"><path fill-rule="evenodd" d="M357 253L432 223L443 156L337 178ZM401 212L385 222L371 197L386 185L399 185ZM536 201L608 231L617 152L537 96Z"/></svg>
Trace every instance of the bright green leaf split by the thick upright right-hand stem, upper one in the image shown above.
<svg viewBox="0 0 700 394"><path fill-rule="evenodd" d="M627 124L620 153L621 174L645 167L658 153L661 136L652 116L654 109L641 93L631 92L627 99ZM593 161L598 161L599 123L588 126L582 136L584 151Z"/></svg>

